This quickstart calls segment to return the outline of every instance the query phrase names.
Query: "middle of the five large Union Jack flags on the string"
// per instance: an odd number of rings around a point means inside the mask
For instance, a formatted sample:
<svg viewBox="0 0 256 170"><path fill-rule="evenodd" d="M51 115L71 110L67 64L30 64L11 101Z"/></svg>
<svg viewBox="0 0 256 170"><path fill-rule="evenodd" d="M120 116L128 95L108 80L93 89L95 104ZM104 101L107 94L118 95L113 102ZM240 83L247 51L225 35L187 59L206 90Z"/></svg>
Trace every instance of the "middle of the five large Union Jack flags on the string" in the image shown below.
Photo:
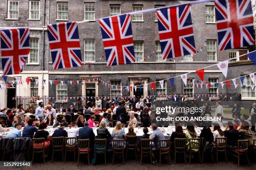
<svg viewBox="0 0 256 170"><path fill-rule="evenodd" d="M99 23L108 67L135 62L131 16L104 18Z"/></svg>

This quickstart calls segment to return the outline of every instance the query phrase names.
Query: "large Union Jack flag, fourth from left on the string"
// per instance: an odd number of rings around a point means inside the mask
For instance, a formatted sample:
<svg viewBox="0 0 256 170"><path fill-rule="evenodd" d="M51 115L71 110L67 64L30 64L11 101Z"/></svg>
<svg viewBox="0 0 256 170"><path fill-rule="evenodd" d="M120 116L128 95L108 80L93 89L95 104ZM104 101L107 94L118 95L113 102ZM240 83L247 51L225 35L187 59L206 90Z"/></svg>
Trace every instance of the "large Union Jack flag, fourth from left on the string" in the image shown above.
<svg viewBox="0 0 256 170"><path fill-rule="evenodd" d="M156 11L162 58L196 53L190 5Z"/></svg>

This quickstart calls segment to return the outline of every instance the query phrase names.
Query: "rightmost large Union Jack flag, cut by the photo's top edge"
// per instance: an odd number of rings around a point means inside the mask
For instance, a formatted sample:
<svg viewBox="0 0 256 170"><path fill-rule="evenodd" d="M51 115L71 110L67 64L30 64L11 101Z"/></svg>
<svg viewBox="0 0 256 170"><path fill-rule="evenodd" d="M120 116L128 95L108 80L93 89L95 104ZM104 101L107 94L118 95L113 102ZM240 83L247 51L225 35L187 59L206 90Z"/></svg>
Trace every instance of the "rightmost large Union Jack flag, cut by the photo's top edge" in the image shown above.
<svg viewBox="0 0 256 170"><path fill-rule="evenodd" d="M215 0L219 50L255 44L251 0Z"/></svg>

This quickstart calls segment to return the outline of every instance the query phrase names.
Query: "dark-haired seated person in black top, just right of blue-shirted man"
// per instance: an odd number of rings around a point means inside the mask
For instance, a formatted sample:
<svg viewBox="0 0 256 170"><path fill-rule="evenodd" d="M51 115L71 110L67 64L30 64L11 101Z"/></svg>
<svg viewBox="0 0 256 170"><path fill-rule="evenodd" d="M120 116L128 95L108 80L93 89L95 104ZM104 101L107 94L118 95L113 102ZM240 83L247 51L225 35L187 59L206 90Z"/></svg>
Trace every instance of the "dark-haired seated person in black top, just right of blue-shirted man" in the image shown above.
<svg viewBox="0 0 256 170"><path fill-rule="evenodd" d="M41 122L36 131L34 138L44 138L44 148L48 148L51 144L49 132L45 129L47 128L47 123Z"/></svg>

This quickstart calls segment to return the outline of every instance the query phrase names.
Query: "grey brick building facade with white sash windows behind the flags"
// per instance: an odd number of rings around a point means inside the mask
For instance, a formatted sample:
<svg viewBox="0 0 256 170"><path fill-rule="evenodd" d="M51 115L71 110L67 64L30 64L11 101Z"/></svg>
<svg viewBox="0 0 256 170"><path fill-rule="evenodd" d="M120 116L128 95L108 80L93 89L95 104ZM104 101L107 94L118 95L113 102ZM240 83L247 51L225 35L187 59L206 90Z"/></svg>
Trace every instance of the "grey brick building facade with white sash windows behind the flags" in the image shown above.
<svg viewBox="0 0 256 170"><path fill-rule="evenodd" d="M181 4L184 0L2 0L0 5L0 27L36 27L49 23L58 23L74 20L90 20L90 22L79 24L79 38L81 44L82 67L73 67L67 69L54 70L52 67L51 54L49 51L49 42L46 28L32 28L31 53L28 63L23 72L15 77L33 77L38 78L38 85L34 82L27 85L18 85L14 92L12 89L0 90L0 107L6 106L8 100L13 95L86 95L86 96L113 96L119 94L118 90L110 90L100 82L82 83L79 85L49 85L48 80L87 80L100 77L103 81L120 86L139 85L144 82L154 82L169 77L181 75L190 71L198 70L202 67L228 60L231 57L243 55L251 50L255 50L255 45L242 47L234 50L218 50L218 36L215 23L214 2L192 5L192 21L195 35L196 49L207 41L207 46L202 49L194 58L191 56L179 57L173 60L159 61L161 51L159 51L159 33L158 25L155 20L155 13L146 13L136 15L132 20L133 40L135 41L136 60L138 62L128 65L119 65L107 67L105 57L98 62L104 48L100 33L100 25L95 18L107 17L120 13L128 13L135 10L150 9L159 6L169 6ZM17 16L18 15L18 16ZM147 60L143 57L156 52ZM142 60L142 61L140 61ZM1 62L1 61L0 61ZM90 64L89 64L90 63ZM223 76L217 66L205 70L204 79L209 82L220 82L230 80L241 75L255 72L255 65L248 60L246 56L239 60L233 60L228 67L227 79ZM0 64L0 74L2 74L2 65ZM200 80L196 73L188 75L189 78ZM42 80L46 80L46 84ZM3 79L0 79L0 81ZM13 78L8 77L8 80ZM246 89L241 89L240 81L237 79L238 87L232 85L227 89L195 88L191 85L184 86L180 77L175 78L174 88L169 82L165 82L163 89L156 90L156 93L226 93L241 92L242 100L256 100L256 88L251 89L251 80L246 77ZM231 82L233 84L233 82ZM156 84L156 88L160 87ZM161 88L161 87L160 87ZM9 92L8 92L9 91ZM140 90L137 90L140 91ZM34 94L33 94L34 93ZM133 92L131 92L133 95ZM151 90L143 89L143 92L136 93L140 95L151 95ZM249 102L248 102L249 103Z"/></svg>

